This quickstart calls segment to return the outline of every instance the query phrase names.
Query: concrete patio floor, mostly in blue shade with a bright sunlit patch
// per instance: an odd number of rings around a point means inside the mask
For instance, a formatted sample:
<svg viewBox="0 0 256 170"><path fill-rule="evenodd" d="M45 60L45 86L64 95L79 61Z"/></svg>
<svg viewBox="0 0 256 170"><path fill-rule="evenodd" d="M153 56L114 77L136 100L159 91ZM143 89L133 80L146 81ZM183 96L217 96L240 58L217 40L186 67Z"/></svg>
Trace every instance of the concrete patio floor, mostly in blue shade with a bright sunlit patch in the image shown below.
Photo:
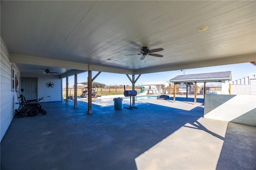
<svg viewBox="0 0 256 170"><path fill-rule="evenodd" d="M96 102L90 115L82 101L41 103L46 115L12 120L1 170L255 170L256 127L205 119L197 102L148 99L133 110Z"/></svg>

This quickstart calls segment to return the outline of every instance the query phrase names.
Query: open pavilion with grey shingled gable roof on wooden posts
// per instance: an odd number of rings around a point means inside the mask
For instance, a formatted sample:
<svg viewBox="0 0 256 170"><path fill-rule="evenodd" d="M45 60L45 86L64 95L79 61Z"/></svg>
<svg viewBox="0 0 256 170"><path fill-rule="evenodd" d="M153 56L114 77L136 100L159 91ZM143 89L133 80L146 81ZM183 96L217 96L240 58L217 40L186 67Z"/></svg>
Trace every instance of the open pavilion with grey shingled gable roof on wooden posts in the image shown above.
<svg viewBox="0 0 256 170"><path fill-rule="evenodd" d="M231 71L224 72L209 72L209 73L200 73L200 74L184 74L176 76L170 79L170 82L173 82L173 101L175 102L175 88L178 84L184 83L186 84L186 99L188 99L188 86L194 83L194 103L196 103L196 91L197 91L197 83L204 83L204 95L205 95L205 85L206 82L222 82L225 84L226 81L232 80ZM224 87L225 88L225 87ZM226 87L228 88L228 87ZM228 89L226 89L228 90ZM222 94L225 94L224 90L222 90ZM228 94L228 93L226 93Z"/></svg>

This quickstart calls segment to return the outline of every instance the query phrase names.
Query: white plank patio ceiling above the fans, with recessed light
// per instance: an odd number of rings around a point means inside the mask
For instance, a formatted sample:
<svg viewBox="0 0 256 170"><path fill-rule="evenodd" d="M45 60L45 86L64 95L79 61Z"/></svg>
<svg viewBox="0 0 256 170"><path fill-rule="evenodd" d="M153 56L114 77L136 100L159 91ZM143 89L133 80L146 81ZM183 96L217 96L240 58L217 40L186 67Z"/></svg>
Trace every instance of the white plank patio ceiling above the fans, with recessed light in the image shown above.
<svg viewBox="0 0 256 170"><path fill-rule="evenodd" d="M21 76L143 74L256 61L256 1L1 1ZM198 31L208 26L205 31ZM163 48L164 57L132 48ZM125 56L129 55L129 56Z"/></svg>

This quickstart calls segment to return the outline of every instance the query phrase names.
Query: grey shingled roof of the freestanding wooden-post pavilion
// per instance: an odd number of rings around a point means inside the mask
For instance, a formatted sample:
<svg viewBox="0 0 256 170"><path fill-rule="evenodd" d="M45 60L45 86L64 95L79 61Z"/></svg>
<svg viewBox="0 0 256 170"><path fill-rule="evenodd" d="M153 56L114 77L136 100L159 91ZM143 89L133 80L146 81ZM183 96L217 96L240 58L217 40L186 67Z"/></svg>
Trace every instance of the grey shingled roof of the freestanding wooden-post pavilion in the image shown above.
<svg viewBox="0 0 256 170"><path fill-rule="evenodd" d="M226 81L226 80L228 81L232 80L231 71L179 75L170 79L170 82L192 83L192 82L218 82L218 81Z"/></svg>

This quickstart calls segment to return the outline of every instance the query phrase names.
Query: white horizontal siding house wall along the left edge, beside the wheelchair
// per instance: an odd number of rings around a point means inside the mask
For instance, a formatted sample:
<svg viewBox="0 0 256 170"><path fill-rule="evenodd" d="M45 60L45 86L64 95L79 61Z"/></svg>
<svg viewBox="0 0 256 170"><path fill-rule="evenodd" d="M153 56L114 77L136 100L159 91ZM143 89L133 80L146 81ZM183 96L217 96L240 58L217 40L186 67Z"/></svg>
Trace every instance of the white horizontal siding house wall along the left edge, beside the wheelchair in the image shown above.
<svg viewBox="0 0 256 170"><path fill-rule="evenodd" d="M4 137L13 117L14 110L19 107L16 92L12 90L12 66L14 67L15 74L20 72L16 64L9 61L9 51L4 45L1 38L1 58L0 58L0 140Z"/></svg>

